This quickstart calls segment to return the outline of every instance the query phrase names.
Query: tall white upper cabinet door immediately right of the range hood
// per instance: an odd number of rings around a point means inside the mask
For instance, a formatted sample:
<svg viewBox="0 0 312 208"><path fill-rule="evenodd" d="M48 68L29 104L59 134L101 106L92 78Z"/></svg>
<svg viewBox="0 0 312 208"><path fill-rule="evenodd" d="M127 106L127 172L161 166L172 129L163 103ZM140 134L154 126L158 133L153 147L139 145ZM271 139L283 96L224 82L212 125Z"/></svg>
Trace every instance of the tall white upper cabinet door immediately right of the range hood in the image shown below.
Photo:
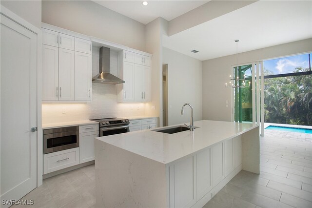
<svg viewBox="0 0 312 208"><path fill-rule="evenodd" d="M135 100L135 64L130 62L123 62L123 100Z"/></svg>

